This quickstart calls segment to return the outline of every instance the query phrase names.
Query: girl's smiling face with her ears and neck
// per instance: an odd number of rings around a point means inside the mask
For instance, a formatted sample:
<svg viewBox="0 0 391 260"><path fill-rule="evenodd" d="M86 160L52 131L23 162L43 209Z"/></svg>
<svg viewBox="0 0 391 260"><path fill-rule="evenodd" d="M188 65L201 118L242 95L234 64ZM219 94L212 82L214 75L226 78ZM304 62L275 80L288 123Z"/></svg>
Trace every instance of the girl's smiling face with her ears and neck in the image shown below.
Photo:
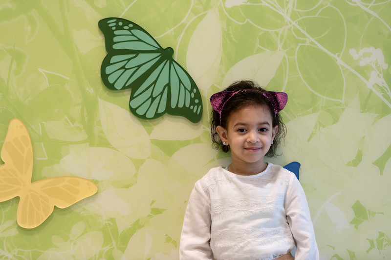
<svg viewBox="0 0 391 260"><path fill-rule="evenodd" d="M266 168L263 158L278 131L272 120L268 107L246 106L229 114L226 128L217 126L220 139L231 149L230 171L248 175Z"/></svg>

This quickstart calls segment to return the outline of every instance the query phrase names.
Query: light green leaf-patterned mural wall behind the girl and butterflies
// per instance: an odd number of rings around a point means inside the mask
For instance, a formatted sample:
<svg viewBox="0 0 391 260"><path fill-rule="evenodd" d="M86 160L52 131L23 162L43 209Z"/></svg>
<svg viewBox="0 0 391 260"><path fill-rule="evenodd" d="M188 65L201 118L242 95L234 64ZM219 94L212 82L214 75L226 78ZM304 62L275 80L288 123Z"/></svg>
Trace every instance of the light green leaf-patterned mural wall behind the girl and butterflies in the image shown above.
<svg viewBox="0 0 391 260"><path fill-rule="evenodd" d="M321 259L390 259L390 12L389 0L1 0L0 146L18 118L32 181L82 177L98 191L26 229L19 198L0 190L0 258L178 259L195 181L229 163L211 147L208 99L249 78L288 93L283 155L270 161L302 164ZM140 119L130 89L104 85L109 17L173 48L199 122Z"/></svg>

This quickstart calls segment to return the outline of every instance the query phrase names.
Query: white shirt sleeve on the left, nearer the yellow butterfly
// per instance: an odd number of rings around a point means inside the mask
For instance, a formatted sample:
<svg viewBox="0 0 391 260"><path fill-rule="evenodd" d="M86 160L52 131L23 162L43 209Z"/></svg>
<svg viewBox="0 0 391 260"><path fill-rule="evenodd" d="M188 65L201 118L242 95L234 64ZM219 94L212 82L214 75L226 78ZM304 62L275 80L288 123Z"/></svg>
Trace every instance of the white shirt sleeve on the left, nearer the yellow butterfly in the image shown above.
<svg viewBox="0 0 391 260"><path fill-rule="evenodd" d="M195 183L187 204L179 244L180 260L213 260L210 198L199 181Z"/></svg>

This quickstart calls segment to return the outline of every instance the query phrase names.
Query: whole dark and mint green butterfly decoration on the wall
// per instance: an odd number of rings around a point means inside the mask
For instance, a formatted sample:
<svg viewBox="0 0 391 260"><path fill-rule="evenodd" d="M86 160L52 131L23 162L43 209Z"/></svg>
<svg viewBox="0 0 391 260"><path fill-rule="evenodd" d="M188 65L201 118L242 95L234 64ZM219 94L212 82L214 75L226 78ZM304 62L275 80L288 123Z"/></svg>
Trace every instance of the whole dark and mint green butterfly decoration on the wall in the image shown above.
<svg viewBox="0 0 391 260"><path fill-rule="evenodd" d="M102 62L103 83L112 90L131 88L129 107L141 119L167 113L196 123L202 100L190 75L173 59L174 50L163 49L132 21L105 18L98 23L108 55Z"/></svg>

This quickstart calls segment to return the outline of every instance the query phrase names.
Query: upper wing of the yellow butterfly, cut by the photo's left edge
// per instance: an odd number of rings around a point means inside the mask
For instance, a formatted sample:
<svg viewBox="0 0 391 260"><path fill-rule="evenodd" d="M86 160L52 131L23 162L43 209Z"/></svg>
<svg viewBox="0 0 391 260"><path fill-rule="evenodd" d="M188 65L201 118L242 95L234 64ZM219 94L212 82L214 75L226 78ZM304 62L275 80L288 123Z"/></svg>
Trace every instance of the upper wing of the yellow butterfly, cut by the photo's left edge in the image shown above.
<svg viewBox="0 0 391 260"><path fill-rule="evenodd" d="M14 118L8 126L1 148L0 201L19 196L29 186L33 170L33 151L27 128Z"/></svg>

